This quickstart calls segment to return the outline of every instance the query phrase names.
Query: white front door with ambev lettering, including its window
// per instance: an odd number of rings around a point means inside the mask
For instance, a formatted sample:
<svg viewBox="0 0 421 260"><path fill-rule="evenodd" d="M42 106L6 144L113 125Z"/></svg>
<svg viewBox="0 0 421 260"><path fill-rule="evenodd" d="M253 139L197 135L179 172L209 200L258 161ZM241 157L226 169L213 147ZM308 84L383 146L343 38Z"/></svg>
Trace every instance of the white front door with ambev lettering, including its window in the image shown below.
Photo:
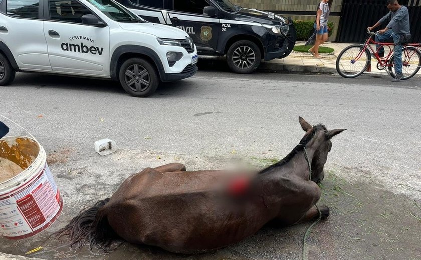
<svg viewBox="0 0 421 260"><path fill-rule="evenodd" d="M44 35L53 71L109 76L110 28L82 24L94 14L75 0L48 0Z"/></svg>

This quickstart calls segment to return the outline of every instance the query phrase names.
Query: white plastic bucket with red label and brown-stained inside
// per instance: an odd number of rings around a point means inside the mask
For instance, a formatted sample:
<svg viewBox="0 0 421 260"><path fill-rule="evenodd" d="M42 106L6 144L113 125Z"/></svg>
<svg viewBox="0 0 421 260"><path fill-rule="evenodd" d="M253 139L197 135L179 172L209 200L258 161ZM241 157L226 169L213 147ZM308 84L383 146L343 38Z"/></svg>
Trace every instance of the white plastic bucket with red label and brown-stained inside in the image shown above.
<svg viewBox="0 0 421 260"><path fill-rule="evenodd" d="M63 209L47 155L35 139L9 136L0 139L0 157L24 168L0 183L0 235L8 239L35 235L50 226Z"/></svg>

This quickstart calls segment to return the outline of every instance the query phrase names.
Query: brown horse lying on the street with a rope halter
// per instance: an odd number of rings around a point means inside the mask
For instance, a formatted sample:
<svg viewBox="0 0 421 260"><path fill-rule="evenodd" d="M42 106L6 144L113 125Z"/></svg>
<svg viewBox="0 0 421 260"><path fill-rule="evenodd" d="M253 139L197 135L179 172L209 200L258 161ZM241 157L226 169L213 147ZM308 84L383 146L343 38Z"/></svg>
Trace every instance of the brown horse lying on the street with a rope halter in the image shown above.
<svg viewBox="0 0 421 260"><path fill-rule="evenodd" d="M287 225L311 220L318 216L316 182L324 177L330 139L344 129L313 127L301 117L299 122L306 132L300 144L260 172L185 171L179 163L145 168L57 235L68 235L73 248L89 241L91 249L108 251L113 240L124 239L199 253L237 243L271 220ZM328 207L320 210L329 215Z"/></svg>

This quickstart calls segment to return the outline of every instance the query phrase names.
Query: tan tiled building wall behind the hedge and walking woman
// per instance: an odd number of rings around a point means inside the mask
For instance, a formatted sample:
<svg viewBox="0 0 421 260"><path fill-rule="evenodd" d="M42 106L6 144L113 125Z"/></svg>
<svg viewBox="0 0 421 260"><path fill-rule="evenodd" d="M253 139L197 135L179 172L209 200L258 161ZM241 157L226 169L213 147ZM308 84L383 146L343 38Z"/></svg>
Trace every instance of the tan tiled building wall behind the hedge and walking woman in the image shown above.
<svg viewBox="0 0 421 260"><path fill-rule="evenodd" d="M272 11L283 16L291 16L293 20L314 20L316 17L316 8L320 0L231 0L234 4L244 8L253 8L263 11ZM341 12L342 0L329 0L330 15L329 20L335 26L329 41L335 41ZM313 13L312 13L313 12Z"/></svg>

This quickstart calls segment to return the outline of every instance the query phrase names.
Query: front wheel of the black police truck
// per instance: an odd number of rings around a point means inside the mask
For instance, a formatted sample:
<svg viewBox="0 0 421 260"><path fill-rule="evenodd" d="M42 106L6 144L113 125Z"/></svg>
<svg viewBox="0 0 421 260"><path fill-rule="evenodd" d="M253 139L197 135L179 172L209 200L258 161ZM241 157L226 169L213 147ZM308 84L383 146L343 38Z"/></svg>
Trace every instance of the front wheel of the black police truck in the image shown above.
<svg viewBox="0 0 421 260"><path fill-rule="evenodd" d="M228 49L228 67L234 73L250 74L260 65L259 47L250 40L239 40Z"/></svg>

